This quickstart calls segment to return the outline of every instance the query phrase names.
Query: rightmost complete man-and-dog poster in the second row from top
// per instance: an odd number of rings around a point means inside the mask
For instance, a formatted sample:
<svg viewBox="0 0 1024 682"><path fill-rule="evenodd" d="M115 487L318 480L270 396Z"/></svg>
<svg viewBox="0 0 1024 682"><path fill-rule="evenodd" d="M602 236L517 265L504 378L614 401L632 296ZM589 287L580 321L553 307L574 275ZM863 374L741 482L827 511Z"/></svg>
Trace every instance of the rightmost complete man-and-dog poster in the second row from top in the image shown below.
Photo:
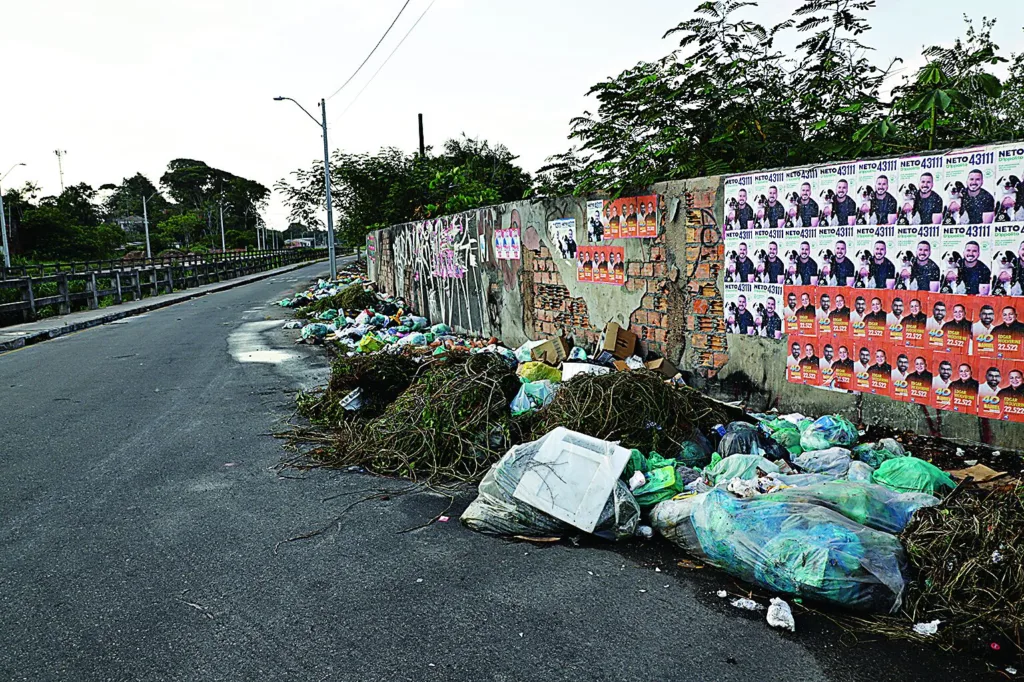
<svg viewBox="0 0 1024 682"><path fill-rule="evenodd" d="M942 257L939 260L939 292L964 296L988 296L991 291L993 226L989 224L942 225Z"/></svg>

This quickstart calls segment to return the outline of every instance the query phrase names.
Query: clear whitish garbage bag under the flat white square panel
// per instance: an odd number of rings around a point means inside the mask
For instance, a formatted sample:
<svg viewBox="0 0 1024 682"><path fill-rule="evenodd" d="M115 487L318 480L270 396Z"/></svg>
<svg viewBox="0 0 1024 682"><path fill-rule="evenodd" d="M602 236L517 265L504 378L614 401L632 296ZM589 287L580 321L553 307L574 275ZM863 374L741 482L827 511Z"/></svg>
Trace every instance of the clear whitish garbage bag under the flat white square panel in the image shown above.
<svg viewBox="0 0 1024 682"><path fill-rule="evenodd" d="M524 384L528 385L528 384ZM545 436L547 437L547 436ZM575 526L516 500L513 495L523 473L540 452L544 438L516 445L480 481L479 495L462 515L467 527L496 536L577 536ZM607 540L632 538L640 521L640 507L622 480L601 512L594 535Z"/></svg>

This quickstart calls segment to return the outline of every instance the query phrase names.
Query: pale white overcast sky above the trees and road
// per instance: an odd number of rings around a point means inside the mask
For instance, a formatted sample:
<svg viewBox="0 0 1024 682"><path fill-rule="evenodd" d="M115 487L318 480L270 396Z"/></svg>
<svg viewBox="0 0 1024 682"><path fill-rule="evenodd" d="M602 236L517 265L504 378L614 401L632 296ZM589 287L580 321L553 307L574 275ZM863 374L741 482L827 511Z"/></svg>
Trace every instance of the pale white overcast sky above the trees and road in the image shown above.
<svg viewBox="0 0 1024 682"><path fill-rule="evenodd" d="M59 190L142 172L154 182L175 158L199 159L272 186L322 156L316 115L366 57L404 0L3 0L0 174L8 185ZM530 172L563 152L568 121L598 81L676 46L662 35L696 0L411 0L364 71L328 100L332 150L414 151L465 132L505 143ZM799 0L765 0L751 17L785 18ZM1024 49L1018 3L880 0L864 41L879 63L951 42L970 9L998 16L1005 56ZM351 108L347 109L350 104ZM346 111L347 109L347 111ZM345 112L343 114L343 112ZM265 215L287 224L276 196Z"/></svg>

